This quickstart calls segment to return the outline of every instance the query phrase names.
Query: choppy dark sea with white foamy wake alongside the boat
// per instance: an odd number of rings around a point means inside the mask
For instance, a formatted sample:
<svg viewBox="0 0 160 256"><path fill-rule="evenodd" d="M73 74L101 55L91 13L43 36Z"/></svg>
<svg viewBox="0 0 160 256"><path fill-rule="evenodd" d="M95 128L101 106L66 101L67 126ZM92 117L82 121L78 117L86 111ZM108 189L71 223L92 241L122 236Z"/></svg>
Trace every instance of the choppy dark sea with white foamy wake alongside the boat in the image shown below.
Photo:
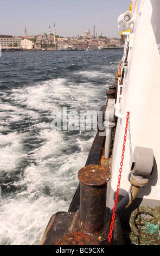
<svg viewBox="0 0 160 256"><path fill-rule="evenodd" d="M2 52L0 245L39 245L68 211L95 130L57 130L52 113L99 111L123 51Z"/></svg>

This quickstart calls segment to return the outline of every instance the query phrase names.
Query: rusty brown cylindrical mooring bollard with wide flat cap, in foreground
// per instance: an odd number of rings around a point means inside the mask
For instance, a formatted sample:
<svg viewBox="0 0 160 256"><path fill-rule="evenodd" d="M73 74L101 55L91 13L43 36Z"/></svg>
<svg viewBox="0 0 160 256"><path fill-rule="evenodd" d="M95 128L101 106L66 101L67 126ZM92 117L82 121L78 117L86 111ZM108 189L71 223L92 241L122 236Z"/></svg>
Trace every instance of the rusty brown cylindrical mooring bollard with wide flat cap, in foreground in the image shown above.
<svg viewBox="0 0 160 256"><path fill-rule="evenodd" d="M81 231L97 233L104 228L107 181L110 176L110 170L97 164L79 170Z"/></svg>

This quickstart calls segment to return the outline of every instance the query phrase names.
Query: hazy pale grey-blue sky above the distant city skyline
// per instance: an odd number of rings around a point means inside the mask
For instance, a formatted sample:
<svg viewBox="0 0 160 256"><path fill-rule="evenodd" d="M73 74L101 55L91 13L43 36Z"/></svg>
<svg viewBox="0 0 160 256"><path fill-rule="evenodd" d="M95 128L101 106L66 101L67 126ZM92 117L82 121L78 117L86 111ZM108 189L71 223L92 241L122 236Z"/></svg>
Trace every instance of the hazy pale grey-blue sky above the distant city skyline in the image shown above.
<svg viewBox="0 0 160 256"><path fill-rule="evenodd" d="M131 0L1 0L0 34L27 35L43 31L61 36L82 35L88 28L120 38L117 19L129 10Z"/></svg>

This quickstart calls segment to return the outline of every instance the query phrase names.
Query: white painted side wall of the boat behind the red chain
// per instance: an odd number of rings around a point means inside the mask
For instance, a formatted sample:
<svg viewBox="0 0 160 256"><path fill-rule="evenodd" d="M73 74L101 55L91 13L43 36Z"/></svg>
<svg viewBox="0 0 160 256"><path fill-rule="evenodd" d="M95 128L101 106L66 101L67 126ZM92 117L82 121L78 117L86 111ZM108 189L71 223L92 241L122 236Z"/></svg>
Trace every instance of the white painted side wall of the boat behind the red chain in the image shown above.
<svg viewBox="0 0 160 256"><path fill-rule="evenodd" d="M135 5L136 4L136 5ZM160 200L160 57L158 46L159 1L133 1L135 24L130 34L128 65L125 69L120 97L119 115L112 156L111 180L108 187L107 206L114 206L117 190L121 152L123 148L126 114L130 112L126 149L121 174L119 197L130 190L128 176L131 172L130 159L135 147L151 148L154 169L149 175L148 185L140 187L137 198L142 205L157 205ZM120 117L119 117L120 116Z"/></svg>

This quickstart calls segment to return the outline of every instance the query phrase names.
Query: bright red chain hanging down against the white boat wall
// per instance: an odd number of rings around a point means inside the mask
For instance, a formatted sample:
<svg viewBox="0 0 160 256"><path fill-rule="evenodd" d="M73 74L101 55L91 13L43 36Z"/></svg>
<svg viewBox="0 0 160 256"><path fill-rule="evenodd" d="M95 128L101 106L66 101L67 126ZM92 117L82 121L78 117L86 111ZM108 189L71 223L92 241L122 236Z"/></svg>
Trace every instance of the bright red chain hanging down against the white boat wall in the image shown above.
<svg viewBox="0 0 160 256"><path fill-rule="evenodd" d="M125 144L126 144L126 136L127 136L127 127L128 127L128 124L129 124L129 114L130 114L130 112L127 112L125 135L124 135L124 142L123 142L123 150L122 150L122 154L121 154L121 162L120 162L120 169L119 169L119 176L118 176L118 185L117 185L116 199L114 200L113 214L112 214L112 220L111 220L111 225L110 225L110 232L108 234L107 245L111 245L113 225L114 225L114 220L115 220L115 217L116 217L116 210L117 210L116 205L118 203L119 186L120 186L120 179L121 179L121 172L122 172L123 159L124 159L124 151L125 151Z"/></svg>

